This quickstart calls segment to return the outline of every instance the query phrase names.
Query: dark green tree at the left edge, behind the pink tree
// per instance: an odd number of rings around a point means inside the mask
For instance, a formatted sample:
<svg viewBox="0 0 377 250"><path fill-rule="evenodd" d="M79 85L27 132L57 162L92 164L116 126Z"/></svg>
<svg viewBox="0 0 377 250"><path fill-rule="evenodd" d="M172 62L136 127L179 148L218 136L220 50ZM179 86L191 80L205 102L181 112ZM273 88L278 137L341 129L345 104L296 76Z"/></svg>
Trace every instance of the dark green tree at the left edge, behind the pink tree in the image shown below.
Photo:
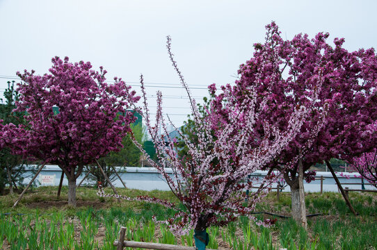
<svg viewBox="0 0 377 250"><path fill-rule="evenodd" d="M15 108L15 101L18 100L19 94L14 88L14 81L8 81L8 88L4 92L5 103L0 104L0 120L3 123L19 124L22 120L22 113L12 113ZM3 102L3 99L0 99ZM9 149L0 150L0 193L3 193L5 185L9 185L10 194L13 193L13 186L22 185L24 180L24 160L21 156L15 156L10 153ZM16 185L17 183L17 185Z"/></svg>

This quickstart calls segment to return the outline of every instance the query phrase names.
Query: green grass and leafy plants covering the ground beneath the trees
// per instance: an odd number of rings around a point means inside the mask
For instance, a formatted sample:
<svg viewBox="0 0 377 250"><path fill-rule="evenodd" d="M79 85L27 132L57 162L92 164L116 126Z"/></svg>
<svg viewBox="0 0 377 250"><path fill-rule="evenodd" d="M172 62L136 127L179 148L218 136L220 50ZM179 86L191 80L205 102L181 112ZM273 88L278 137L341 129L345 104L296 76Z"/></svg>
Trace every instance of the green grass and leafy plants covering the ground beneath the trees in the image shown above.
<svg viewBox="0 0 377 250"><path fill-rule="evenodd" d="M171 192L117 189L122 195L154 195L177 202ZM94 188L77 190L78 207L67 206L66 192L56 197L56 187L35 188L26 193L17 208L17 194L0 197L0 249L114 249L120 226L126 226L127 240L193 246L193 231L176 238L158 220L175 212L145 202L100 199ZM111 192L109 189L107 192ZM340 194L307 194L307 213L323 213L308 219L308 230L292 219L276 217L270 228L257 226L240 217L226 227L208 228L211 249L377 249L377 196L350 193L351 203L360 214L353 216ZM289 215L290 197L268 194L257 206L259 211ZM257 215L258 219L271 219ZM1 240L2 239L2 240Z"/></svg>

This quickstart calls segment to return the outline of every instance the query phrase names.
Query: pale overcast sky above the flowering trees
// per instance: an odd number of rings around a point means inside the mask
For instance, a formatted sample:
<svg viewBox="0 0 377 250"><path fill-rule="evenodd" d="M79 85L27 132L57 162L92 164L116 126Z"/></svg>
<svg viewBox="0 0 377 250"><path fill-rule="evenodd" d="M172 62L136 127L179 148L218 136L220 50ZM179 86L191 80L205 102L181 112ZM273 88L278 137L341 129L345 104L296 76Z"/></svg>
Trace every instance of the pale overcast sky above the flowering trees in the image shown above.
<svg viewBox="0 0 377 250"><path fill-rule="evenodd" d="M283 38L296 33L329 41L346 38L348 50L377 47L377 1L18 1L0 0L0 96L17 70L44 74L54 56L90 61L138 85L141 73L155 86L179 84L166 52L166 35L186 81L195 88L232 83L237 69L263 42L274 20ZM150 84L152 85L152 84ZM178 86L178 85L175 85ZM138 90L137 87L135 87ZM179 88L159 89L177 126L189 113ZM154 94L157 88L148 88ZM192 90L195 97L207 90ZM178 97L178 98L177 98ZM152 112L155 99L149 99ZM183 114L183 115L182 115Z"/></svg>

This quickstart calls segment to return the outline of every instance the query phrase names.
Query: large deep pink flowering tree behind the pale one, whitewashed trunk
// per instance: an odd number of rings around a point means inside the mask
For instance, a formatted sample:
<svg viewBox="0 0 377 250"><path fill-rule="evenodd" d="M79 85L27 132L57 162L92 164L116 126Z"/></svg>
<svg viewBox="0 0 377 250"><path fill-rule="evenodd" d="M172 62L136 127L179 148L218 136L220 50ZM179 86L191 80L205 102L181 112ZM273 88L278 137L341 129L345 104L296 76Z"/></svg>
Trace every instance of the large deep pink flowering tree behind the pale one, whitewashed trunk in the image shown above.
<svg viewBox="0 0 377 250"><path fill-rule="evenodd" d="M243 103L245 93L254 90L255 105L262 103L265 107L251 138L266 138L266 124L286 131L297 106L312 107L300 133L278 158L264 166L282 172L291 188L292 215L306 224L300 180L312 179L310 167L376 147L376 131L371 124L377 118L377 57L374 49L346 51L344 39L335 38L332 47L326 42L328 33L318 33L313 39L298 34L292 40L283 40L274 22L266 26L266 31L264 44L254 44L253 57L241 65L236 85L226 88L236 97L234 105ZM227 113L223 115L227 117ZM251 141L255 147L261 142ZM300 168L303 178L299 178Z"/></svg>

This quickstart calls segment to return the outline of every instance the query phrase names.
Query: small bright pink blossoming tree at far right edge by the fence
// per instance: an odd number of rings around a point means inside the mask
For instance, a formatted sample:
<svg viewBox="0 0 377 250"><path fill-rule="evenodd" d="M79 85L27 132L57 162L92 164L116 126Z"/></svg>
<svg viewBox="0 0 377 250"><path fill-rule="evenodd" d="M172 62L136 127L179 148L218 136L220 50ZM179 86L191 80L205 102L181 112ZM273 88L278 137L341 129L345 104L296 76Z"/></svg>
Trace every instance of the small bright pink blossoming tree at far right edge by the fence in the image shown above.
<svg viewBox="0 0 377 250"><path fill-rule="evenodd" d="M377 188L377 150L362 153L361 156L349 160L351 171L358 172L360 178L366 179Z"/></svg>

